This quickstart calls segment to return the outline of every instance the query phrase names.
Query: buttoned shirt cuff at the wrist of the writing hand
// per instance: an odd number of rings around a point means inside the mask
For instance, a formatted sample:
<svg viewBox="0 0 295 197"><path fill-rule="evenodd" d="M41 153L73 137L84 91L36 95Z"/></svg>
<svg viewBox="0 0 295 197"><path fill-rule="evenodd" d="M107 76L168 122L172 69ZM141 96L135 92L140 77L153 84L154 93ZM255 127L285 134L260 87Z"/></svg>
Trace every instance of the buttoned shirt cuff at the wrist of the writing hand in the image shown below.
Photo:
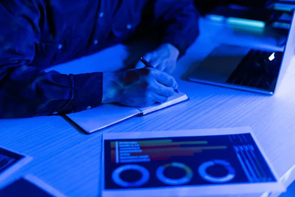
<svg viewBox="0 0 295 197"><path fill-rule="evenodd" d="M97 107L102 101L103 73L92 72L73 75L74 93L72 112Z"/></svg>

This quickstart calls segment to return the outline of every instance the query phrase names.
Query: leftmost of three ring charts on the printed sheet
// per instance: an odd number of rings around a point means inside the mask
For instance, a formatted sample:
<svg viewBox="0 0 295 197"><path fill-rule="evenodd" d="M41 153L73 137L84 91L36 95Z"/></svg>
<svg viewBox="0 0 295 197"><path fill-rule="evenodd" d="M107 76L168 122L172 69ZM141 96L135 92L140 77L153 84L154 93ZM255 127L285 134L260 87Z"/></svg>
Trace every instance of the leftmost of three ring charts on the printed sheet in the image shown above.
<svg viewBox="0 0 295 197"><path fill-rule="evenodd" d="M120 174L126 170L136 170L142 174L142 177L139 180L134 181L134 182L124 181L121 179ZM117 185L119 185L121 187L125 187L125 188L139 187L139 186L142 186L148 182L149 172L145 167L143 167L141 165L137 165L137 164L122 165L113 171L112 179Z"/></svg>

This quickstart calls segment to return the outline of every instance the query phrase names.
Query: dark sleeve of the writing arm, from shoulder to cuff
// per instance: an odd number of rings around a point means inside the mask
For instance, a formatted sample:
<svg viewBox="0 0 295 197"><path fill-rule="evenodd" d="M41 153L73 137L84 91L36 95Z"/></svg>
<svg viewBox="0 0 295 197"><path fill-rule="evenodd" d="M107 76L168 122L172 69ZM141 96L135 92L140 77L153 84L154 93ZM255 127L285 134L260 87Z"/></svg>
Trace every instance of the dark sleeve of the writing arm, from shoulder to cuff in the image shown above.
<svg viewBox="0 0 295 197"><path fill-rule="evenodd" d="M101 103L101 72L66 75L29 66L40 40L33 0L0 0L0 19L0 118L65 114Z"/></svg>

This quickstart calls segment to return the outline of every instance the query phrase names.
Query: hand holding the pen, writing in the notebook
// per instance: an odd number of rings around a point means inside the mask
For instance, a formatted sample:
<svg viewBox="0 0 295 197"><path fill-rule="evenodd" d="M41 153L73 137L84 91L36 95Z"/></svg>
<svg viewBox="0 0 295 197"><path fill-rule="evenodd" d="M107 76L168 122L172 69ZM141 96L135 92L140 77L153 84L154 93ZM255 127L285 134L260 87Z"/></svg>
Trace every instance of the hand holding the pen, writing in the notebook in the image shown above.
<svg viewBox="0 0 295 197"><path fill-rule="evenodd" d="M102 103L145 107L155 102L166 102L175 89L176 80L155 68L104 73Z"/></svg>

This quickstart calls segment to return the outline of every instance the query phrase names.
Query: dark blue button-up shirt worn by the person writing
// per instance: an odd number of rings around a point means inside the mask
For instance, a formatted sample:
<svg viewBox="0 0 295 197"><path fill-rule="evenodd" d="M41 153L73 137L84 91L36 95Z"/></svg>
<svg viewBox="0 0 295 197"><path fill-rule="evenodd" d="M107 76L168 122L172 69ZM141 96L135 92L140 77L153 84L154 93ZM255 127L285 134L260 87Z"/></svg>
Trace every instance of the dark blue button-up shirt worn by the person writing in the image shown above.
<svg viewBox="0 0 295 197"><path fill-rule="evenodd" d="M121 43L141 26L158 27L161 42L183 55L198 36L198 12L191 0L0 0L0 118L98 106L103 73L44 69Z"/></svg>

